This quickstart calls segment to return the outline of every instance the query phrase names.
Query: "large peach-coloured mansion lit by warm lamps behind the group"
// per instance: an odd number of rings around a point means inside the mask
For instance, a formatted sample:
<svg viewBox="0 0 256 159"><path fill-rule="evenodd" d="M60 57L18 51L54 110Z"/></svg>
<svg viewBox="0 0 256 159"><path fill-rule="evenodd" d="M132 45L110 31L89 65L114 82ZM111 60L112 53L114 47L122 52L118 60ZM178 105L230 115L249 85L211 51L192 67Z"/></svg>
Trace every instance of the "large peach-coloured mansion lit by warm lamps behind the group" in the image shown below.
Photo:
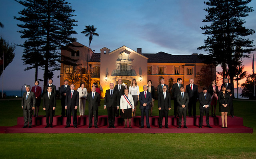
<svg viewBox="0 0 256 159"><path fill-rule="evenodd" d="M164 78L165 84L169 87L177 82L177 78L182 78L184 86L189 84L190 78L196 83L196 73L203 66L198 54L171 55L164 52L145 54L142 53L142 48L134 51L126 46L113 51L104 47L100 49L100 53L95 53L91 49L88 51L88 47L78 42L71 43L69 48L72 51L61 50L62 56L77 60L76 64L79 64L79 67L86 69L86 61L89 58L89 74L92 81L99 83L103 97L106 89L109 89L109 84L112 82L116 85L118 79L122 79L123 85L127 88L132 79L136 79L140 91L143 91L142 86L147 85L148 80L151 80L152 85L157 88L160 78ZM73 66L61 64L60 85L64 84L68 74L73 74L73 69ZM212 69L212 75L216 76L216 68ZM75 89L78 87L79 84Z"/></svg>

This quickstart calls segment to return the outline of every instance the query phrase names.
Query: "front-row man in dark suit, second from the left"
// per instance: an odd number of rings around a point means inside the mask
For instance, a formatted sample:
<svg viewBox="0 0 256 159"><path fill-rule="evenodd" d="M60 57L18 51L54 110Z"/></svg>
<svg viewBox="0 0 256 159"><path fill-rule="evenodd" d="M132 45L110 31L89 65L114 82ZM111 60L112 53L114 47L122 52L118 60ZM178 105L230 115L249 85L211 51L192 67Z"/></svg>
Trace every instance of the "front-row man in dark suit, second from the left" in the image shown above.
<svg viewBox="0 0 256 159"><path fill-rule="evenodd" d="M52 127L53 111L56 108L56 94L52 91L52 87L48 86L47 92L43 96L43 109L46 113L46 127ZM49 123L50 117L50 123ZM45 128L46 128L45 127Z"/></svg>

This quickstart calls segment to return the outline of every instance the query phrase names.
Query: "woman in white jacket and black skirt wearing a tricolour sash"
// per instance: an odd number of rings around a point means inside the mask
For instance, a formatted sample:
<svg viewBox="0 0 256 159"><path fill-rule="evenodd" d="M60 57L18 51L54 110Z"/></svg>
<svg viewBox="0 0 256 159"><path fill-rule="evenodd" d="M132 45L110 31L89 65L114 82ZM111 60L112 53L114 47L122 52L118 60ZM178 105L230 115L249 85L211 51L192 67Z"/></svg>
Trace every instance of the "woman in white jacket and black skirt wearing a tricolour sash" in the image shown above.
<svg viewBox="0 0 256 159"><path fill-rule="evenodd" d="M129 127L132 128L131 126L131 121L132 121L132 113L134 111L134 101L132 95L128 94L129 89L124 89L124 95L121 96L120 99L120 109L122 110L122 118L124 119L125 127L127 127L127 118L129 121Z"/></svg>

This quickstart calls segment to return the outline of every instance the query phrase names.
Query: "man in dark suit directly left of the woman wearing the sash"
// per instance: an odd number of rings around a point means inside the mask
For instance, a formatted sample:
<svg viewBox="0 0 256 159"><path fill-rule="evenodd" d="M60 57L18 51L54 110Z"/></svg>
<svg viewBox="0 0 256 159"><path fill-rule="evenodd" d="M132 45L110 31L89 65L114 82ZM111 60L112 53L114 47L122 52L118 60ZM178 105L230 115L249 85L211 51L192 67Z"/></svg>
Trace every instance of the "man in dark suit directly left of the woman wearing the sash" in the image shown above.
<svg viewBox="0 0 256 159"><path fill-rule="evenodd" d="M105 100L104 100L104 109L108 110L108 128L115 128L115 114L116 110L119 109L120 98L118 91L114 90L114 83L110 83L110 89L106 90Z"/></svg>

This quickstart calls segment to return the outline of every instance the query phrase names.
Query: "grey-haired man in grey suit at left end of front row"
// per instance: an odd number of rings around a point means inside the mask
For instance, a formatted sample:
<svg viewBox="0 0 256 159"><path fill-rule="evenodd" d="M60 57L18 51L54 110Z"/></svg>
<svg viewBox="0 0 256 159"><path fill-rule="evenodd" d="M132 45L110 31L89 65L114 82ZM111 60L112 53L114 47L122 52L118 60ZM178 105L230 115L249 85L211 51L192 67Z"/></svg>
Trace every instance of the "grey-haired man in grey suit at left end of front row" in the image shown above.
<svg viewBox="0 0 256 159"><path fill-rule="evenodd" d="M23 93L21 99L21 107L23 109L24 118L24 126L22 128L32 127L32 115L36 105L36 95L34 92L30 91L30 89L30 85L27 85L26 92Z"/></svg>

